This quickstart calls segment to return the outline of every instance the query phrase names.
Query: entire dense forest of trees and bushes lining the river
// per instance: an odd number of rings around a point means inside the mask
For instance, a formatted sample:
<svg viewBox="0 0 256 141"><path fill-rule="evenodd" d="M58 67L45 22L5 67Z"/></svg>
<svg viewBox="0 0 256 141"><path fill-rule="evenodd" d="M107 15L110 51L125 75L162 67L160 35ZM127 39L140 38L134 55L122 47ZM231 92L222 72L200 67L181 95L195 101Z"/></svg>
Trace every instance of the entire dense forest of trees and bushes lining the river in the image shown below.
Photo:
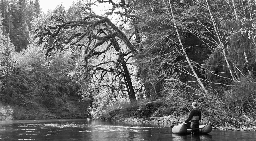
<svg viewBox="0 0 256 141"><path fill-rule="evenodd" d="M182 115L197 101L212 122L256 125L255 1L39 5L1 1L0 100L15 119Z"/></svg>

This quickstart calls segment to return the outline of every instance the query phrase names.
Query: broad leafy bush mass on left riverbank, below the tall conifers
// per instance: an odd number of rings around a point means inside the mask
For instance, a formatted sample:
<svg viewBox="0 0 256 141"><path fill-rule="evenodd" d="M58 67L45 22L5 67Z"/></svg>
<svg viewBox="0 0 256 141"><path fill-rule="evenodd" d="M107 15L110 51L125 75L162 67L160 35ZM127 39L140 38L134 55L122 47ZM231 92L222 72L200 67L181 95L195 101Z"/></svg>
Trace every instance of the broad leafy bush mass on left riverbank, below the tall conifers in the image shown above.
<svg viewBox="0 0 256 141"><path fill-rule="evenodd" d="M4 82L0 100L16 105L14 119L84 118L89 103L80 102L72 71L72 51L57 51L48 67L42 49L30 45L14 55L14 69ZM71 98L72 97L72 98Z"/></svg>

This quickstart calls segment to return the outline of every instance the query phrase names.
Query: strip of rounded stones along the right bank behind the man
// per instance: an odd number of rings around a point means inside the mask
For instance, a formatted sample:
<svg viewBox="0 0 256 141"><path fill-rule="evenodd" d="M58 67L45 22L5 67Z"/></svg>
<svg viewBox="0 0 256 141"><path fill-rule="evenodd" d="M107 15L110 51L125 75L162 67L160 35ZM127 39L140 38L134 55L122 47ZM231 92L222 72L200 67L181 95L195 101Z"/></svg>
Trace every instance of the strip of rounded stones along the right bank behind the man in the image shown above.
<svg viewBox="0 0 256 141"><path fill-rule="evenodd" d="M176 124L183 123L187 116L175 116L175 115L168 115L163 117L152 117L152 118L122 118L117 121L122 122L142 122L142 123L152 123L152 124L166 124L165 127L173 127ZM208 124L211 122L207 118L203 118L200 121L200 125ZM256 126L254 127L245 127L243 125L239 124L231 124L229 122L226 123L217 123L216 125L212 123L212 129L218 129L218 130L232 130L232 131L256 131Z"/></svg>

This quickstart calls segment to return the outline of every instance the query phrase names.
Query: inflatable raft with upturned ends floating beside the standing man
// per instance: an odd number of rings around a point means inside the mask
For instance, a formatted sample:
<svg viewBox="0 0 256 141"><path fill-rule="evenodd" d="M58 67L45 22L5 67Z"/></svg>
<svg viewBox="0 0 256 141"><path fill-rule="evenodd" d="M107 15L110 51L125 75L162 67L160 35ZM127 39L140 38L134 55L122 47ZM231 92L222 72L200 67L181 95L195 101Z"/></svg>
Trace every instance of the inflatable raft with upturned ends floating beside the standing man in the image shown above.
<svg viewBox="0 0 256 141"><path fill-rule="evenodd" d="M211 130L211 123L199 126L200 134L208 134L211 132ZM172 132L173 134L191 134L190 123L182 123L179 125L175 125L172 129Z"/></svg>

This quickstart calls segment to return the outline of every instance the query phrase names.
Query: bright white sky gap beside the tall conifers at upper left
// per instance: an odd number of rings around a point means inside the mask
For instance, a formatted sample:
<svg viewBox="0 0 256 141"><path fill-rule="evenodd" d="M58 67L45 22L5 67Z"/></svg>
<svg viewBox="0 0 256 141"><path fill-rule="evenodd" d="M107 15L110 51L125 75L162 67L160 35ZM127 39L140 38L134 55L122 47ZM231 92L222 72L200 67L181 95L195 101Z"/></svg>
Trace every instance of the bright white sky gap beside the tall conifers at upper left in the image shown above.
<svg viewBox="0 0 256 141"><path fill-rule="evenodd" d="M73 1L74 0L39 0L42 12L45 14L47 14L49 8L53 10L61 3L66 9L68 9L72 5Z"/></svg>

